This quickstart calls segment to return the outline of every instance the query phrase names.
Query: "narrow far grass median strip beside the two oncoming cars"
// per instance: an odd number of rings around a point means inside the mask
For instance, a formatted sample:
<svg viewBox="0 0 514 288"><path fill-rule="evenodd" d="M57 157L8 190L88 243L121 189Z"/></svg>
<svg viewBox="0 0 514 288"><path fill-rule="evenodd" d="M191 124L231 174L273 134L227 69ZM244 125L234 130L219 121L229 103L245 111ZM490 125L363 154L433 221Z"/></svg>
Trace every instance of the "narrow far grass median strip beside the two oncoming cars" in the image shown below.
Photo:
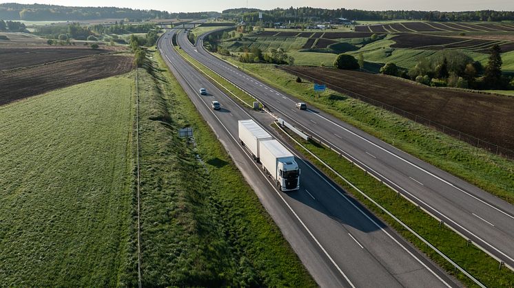
<svg viewBox="0 0 514 288"><path fill-rule="evenodd" d="M247 93L243 92L241 89L238 89L238 87L232 85L231 82L225 80L223 77L220 77L218 74L214 73L209 68L205 67L202 63L198 62L191 56L189 56L186 52L184 52L183 49L177 49L179 54L185 58L185 60L189 61L195 69L198 71L201 71L203 74L207 76L207 78L214 80L213 84L216 85L219 89L227 91L227 95L233 98L234 100L245 104L246 106L251 107L252 103L255 100L255 98L249 96Z"/></svg>

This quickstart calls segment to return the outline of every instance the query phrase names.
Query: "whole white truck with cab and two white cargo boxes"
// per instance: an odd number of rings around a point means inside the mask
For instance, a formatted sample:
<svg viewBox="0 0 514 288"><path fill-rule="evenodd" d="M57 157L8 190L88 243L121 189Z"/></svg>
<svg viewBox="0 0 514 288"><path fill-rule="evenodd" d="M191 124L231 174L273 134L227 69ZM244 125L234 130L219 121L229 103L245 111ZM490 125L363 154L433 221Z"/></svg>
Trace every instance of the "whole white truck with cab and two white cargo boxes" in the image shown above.
<svg viewBox="0 0 514 288"><path fill-rule="evenodd" d="M294 155L254 120L238 121L239 142L245 146L281 191L300 188L300 168Z"/></svg>

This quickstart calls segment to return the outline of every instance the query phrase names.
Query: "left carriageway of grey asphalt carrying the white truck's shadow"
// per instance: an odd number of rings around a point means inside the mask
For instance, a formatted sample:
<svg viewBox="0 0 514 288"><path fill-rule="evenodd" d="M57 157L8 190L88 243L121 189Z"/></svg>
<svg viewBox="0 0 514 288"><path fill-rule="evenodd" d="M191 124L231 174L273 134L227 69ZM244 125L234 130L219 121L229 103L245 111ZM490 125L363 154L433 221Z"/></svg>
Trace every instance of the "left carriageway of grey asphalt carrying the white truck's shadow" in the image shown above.
<svg viewBox="0 0 514 288"><path fill-rule="evenodd" d="M190 66L172 47L175 32L159 38L161 55L318 285L462 286L298 155L300 190L276 190L237 141L237 121L250 118L277 137L269 126L274 118L240 107ZM200 88L208 95L200 96ZM212 100L220 102L220 111L211 109Z"/></svg>

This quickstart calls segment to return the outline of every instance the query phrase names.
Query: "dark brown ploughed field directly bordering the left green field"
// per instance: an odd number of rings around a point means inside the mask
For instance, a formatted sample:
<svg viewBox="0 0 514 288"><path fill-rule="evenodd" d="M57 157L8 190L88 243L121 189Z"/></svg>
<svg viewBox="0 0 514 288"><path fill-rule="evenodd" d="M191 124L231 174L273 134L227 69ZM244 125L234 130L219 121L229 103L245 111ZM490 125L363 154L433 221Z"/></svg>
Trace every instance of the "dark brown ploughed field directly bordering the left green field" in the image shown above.
<svg viewBox="0 0 514 288"><path fill-rule="evenodd" d="M0 105L45 91L127 73L132 56L94 55L16 71L0 72Z"/></svg>

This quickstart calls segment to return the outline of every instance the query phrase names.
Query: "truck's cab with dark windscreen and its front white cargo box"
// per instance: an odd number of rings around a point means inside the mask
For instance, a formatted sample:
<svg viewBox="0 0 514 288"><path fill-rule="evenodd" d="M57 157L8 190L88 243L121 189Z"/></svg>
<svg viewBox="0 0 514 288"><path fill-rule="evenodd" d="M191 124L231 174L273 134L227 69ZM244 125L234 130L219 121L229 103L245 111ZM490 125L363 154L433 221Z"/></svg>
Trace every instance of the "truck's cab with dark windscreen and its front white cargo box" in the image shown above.
<svg viewBox="0 0 514 288"><path fill-rule="evenodd" d="M281 191L300 188L300 168L294 155L277 140L263 140L259 143L260 163Z"/></svg>

